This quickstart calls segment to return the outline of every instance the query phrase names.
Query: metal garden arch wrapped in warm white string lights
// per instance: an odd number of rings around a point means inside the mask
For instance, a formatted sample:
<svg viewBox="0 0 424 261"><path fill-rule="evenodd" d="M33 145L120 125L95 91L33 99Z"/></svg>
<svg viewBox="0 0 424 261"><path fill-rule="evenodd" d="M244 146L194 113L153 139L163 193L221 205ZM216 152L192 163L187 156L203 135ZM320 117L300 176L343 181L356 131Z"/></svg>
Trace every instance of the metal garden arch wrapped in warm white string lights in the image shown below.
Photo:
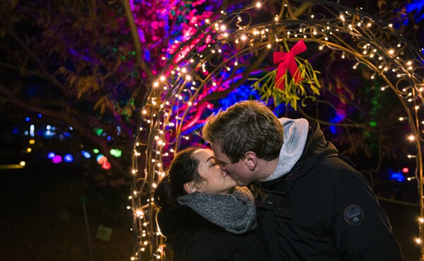
<svg viewBox="0 0 424 261"><path fill-rule="evenodd" d="M305 19L293 17L290 5L307 3ZM266 3L265 3L266 4ZM264 5L264 3L262 4ZM275 17L254 16L263 7L254 3L237 11L221 11L216 21L205 21L188 42L167 59L163 71L148 90L134 139L131 209L134 213L134 257L146 253L151 260L166 260L163 238L155 225L152 193L165 175L173 154L199 139L193 126L211 112L210 101L252 81L259 66L281 45L303 40L362 64L384 82L381 91L394 91L411 130L408 157L416 160L415 176L424 218L423 155L420 127L423 106L423 58L401 33L358 9L331 1L282 1ZM309 48L309 47L308 47ZM269 61L269 67L276 67ZM259 70L261 71L261 70ZM311 92L309 90L309 92ZM141 154L144 157L140 157ZM424 239L424 221L419 238ZM424 259L424 248L420 247Z"/></svg>

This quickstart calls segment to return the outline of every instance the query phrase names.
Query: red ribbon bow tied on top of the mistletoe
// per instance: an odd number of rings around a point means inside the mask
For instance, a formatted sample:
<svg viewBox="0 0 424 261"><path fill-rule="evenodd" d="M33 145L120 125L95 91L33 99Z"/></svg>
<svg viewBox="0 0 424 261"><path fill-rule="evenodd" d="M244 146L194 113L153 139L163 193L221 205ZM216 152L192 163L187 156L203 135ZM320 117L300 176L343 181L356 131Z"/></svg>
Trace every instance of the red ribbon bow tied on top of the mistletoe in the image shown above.
<svg viewBox="0 0 424 261"><path fill-rule="evenodd" d="M273 62L278 64L276 75L276 88L284 90L284 81L279 81L284 76L285 72L290 71L290 74L295 79L295 83L299 83L303 79L300 78L300 71L298 71L298 64L296 64L295 55L306 51L306 45L303 40L297 42L289 52L274 52Z"/></svg>

